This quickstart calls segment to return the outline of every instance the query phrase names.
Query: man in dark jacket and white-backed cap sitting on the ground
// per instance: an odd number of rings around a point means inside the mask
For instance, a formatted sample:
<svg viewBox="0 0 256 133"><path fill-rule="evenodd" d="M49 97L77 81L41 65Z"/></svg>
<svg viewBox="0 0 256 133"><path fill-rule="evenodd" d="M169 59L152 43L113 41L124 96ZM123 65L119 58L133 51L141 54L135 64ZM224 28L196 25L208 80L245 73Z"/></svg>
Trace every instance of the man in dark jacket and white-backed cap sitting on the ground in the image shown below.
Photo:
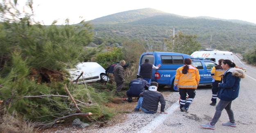
<svg viewBox="0 0 256 133"><path fill-rule="evenodd" d="M134 111L139 111L139 108L143 110L145 113L156 113L158 108L158 103L161 103L161 113L164 112L165 108L165 99L163 98L163 94L157 91L158 83L151 82L148 90L140 93L140 98L138 100L138 104Z"/></svg>

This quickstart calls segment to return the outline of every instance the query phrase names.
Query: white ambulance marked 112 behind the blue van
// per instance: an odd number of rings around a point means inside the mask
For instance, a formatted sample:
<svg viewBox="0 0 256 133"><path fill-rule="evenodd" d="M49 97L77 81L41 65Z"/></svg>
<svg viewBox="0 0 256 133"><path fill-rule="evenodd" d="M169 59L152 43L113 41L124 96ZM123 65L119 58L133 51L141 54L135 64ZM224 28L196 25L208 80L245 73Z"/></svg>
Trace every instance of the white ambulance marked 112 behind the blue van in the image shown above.
<svg viewBox="0 0 256 133"><path fill-rule="evenodd" d="M229 59L232 62L234 62L233 53L229 51L206 49L206 50L193 52L191 56L196 59L210 60L216 63L218 63L219 59Z"/></svg>

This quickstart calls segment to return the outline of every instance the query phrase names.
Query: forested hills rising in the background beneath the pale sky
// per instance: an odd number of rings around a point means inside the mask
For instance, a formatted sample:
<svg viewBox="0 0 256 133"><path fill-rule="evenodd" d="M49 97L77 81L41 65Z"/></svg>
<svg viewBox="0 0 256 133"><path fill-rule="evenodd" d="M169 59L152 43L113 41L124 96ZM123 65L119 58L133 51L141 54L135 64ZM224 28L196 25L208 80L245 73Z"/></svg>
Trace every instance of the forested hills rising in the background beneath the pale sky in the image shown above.
<svg viewBox="0 0 256 133"><path fill-rule="evenodd" d="M256 46L256 24L242 20L224 20L211 17L186 17L155 9L120 12L91 20L95 27L95 43L103 41L122 43L123 39L137 39L163 43L175 32L196 34L203 47L244 52Z"/></svg>

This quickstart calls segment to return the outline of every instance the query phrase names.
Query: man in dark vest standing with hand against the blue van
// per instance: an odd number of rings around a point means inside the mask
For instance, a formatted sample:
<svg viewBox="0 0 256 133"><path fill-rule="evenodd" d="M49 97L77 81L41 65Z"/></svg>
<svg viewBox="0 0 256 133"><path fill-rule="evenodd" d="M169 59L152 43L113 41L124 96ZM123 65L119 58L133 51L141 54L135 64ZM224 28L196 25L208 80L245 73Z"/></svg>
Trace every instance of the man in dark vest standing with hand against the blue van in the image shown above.
<svg viewBox="0 0 256 133"><path fill-rule="evenodd" d="M152 69L159 69L160 66L160 64L155 66L150 63L150 59L145 59L145 62L139 65L138 75L141 75L144 80L150 83L152 78Z"/></svg>

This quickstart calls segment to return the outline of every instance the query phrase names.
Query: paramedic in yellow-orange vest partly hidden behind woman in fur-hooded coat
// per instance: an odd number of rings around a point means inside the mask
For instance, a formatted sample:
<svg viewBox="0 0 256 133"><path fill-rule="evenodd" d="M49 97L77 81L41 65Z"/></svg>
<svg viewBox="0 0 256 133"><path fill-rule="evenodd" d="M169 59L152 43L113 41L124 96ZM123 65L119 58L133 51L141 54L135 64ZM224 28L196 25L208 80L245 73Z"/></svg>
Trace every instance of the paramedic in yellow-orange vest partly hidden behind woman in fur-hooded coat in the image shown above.
<svg viewBox="0 0 256 133"><path fill-rule="evenodd" d="M213 95L212 95L212 98L211 98L211 106L215 106L216 105L216 102L217 102L217 93L219 91L219 87L218 87L218 84L220 83L221 81L221 75L223 75L223 73L225 72L224 69L221 68L221 62L223 61L224 59L219 59L218 61L218 65L214 66L211 70L211 76L213 77L213 88L212 88L212 92L213 92Z"/></svg>

